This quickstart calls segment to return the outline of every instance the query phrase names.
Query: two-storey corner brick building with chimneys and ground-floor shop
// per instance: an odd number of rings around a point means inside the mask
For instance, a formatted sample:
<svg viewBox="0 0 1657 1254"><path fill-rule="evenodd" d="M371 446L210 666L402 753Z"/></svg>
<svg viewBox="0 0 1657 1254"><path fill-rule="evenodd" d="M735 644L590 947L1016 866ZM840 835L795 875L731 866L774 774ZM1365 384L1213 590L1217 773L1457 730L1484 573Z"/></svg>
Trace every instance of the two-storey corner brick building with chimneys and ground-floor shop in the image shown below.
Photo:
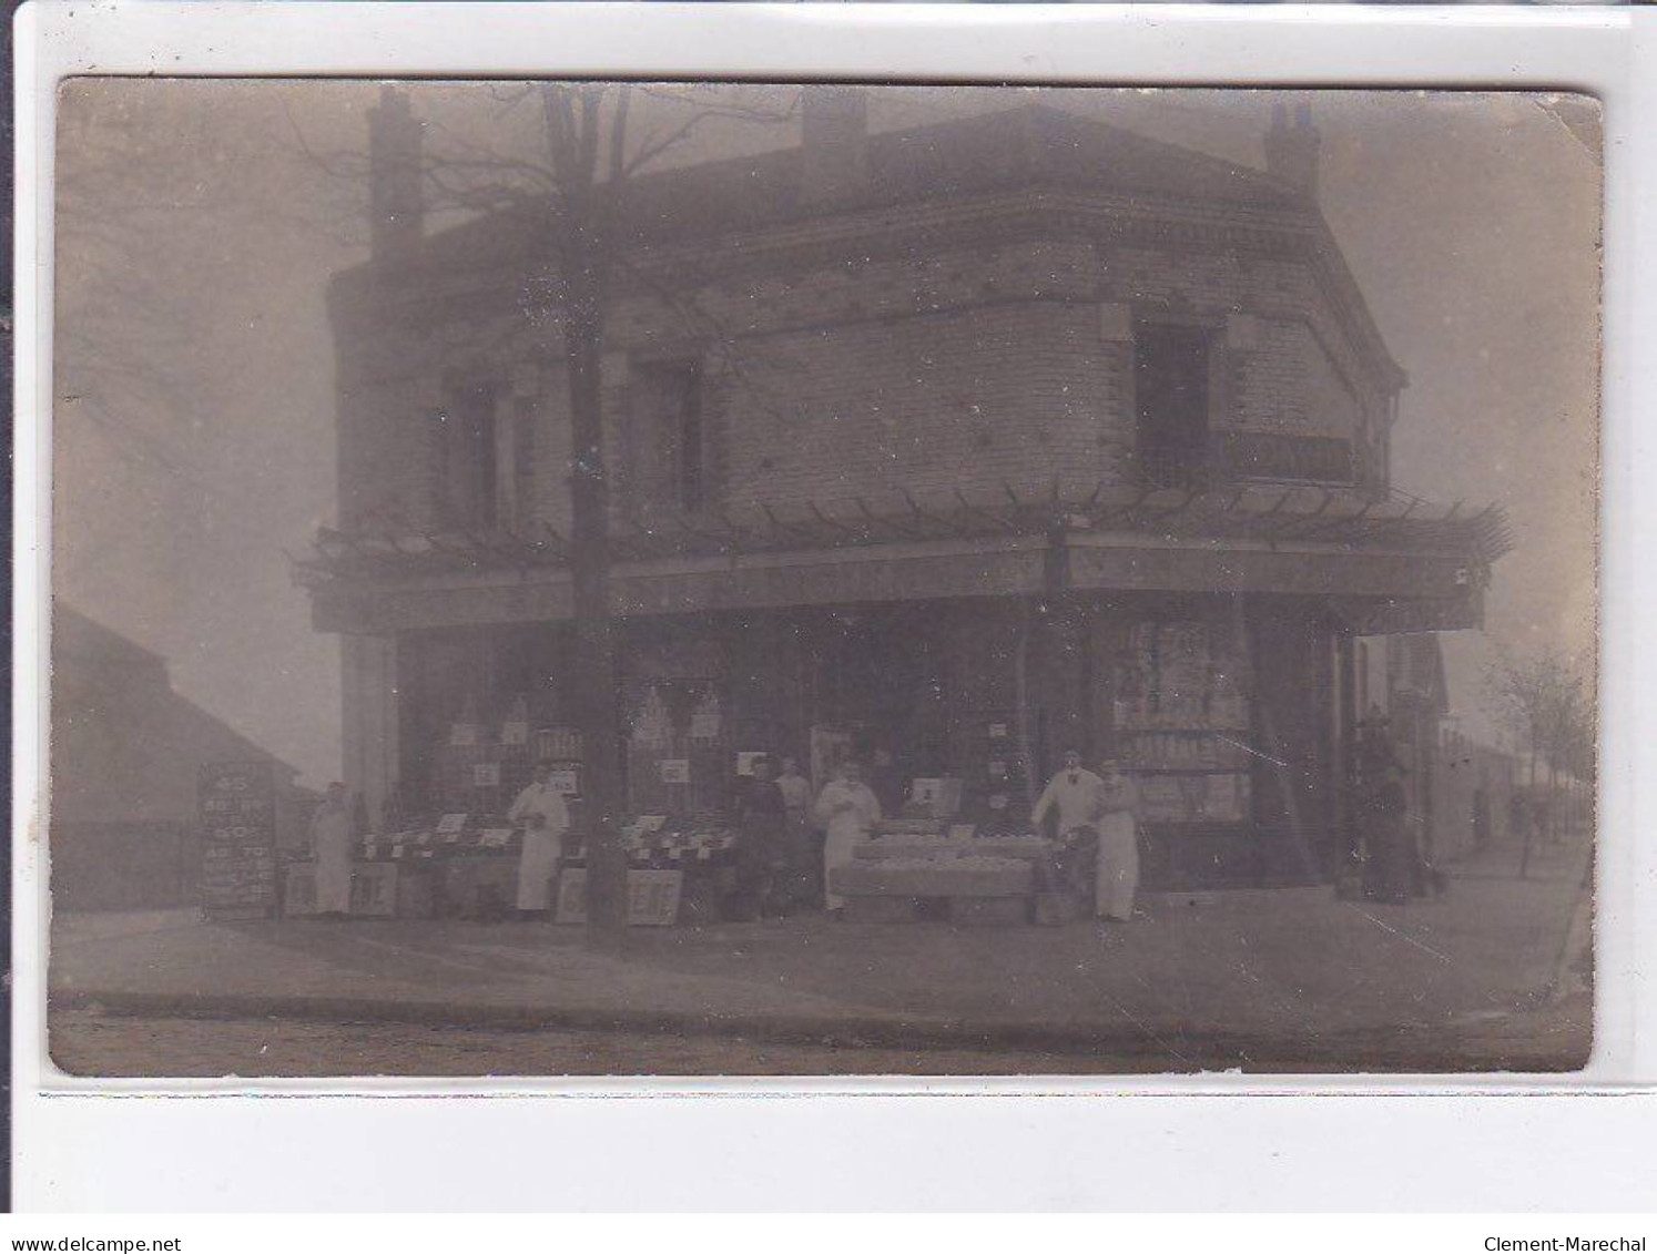
<svg viewBox="0 0 1657 1254"><path fill-rule="evenodd" d="M418 123L388 93L373 128L374 257L331 290L340 527L305 580L371 813L504 808L567 721L548 227L423 234ZM1022 803L1077 745L1137 774L1148 883L1327 876L1354 641L1476 626L1506 538L1389 484L1405 376L1311 119L1279 113L1264 172L1042 104L870 134L814 89L802 133L626 194L631 807L717 808L744 750L875 749Z"/></svg>

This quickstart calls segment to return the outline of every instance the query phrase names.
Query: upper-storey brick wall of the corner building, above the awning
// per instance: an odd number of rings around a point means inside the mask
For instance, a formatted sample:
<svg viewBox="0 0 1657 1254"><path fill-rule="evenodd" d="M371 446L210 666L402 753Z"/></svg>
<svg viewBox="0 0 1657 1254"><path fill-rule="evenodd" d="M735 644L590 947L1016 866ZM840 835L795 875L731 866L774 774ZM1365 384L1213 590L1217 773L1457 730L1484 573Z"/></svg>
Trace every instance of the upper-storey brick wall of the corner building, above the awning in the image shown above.
<svg viewBox="0 0 1657 1254"><path fill-rule="evenodd" d="M1326 235L1311 205L1027 189L651 253L606 325L618 510L668 505L628 490L626 424L631 371L671 359L703 371L713 509L1120 482L1135 326L1162 320L1211 335L1213 431L1345 441L1359 480L1384 484L1402 374ZM534 267L512 248L457 267L428 244L424 268L335 287L343 525L439 527L436 432L459 388L487 383L519 432L500 523L562 530L568 416L557 331L525 313Z"/></svg>

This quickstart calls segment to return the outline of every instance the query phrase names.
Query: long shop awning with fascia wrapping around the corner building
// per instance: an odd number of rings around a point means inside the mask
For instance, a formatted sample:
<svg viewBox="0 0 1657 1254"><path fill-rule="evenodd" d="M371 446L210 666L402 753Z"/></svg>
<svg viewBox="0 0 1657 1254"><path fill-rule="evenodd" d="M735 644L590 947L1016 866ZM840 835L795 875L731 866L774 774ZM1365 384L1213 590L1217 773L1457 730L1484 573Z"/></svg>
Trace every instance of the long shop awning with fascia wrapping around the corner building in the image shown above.
<svg viewBox="0 0 1657 1254"><path fill-rule="evenodd" d="M1289 593L1365 615L1427 606L1443 623L1427 629L1443 629L1473 625L1465 620L1476 616L1488 570L1510 547L1500 509L1403 494L1006 485L996 497L898 494L626 517L611 532L611 595L620 615L671 615L1064 588ZM323 629L570 615L568 540L552 527L328 530L295 570Z"/></svg>

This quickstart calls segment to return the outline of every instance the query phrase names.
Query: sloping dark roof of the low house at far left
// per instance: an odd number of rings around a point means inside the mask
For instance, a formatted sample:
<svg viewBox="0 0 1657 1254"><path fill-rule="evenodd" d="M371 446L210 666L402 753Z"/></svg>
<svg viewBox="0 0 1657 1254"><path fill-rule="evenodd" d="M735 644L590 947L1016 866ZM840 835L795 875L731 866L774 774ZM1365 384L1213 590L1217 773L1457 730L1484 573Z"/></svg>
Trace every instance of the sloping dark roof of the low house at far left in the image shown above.
<svg viewBox="0 0 1657 1254"><path fill-rule="evenodd" d="M172 691L161 654L58 601L51 674L53 822L194 822L209 762L298 770Z"/></svg>

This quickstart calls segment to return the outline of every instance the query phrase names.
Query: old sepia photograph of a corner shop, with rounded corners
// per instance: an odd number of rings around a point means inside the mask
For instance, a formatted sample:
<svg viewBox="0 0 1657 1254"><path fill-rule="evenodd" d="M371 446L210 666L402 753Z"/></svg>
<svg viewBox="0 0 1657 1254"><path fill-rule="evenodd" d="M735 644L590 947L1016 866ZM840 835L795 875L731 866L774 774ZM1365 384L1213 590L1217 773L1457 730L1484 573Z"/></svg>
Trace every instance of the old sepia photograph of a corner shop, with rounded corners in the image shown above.
<svg viewBox="0 0 1657 1254"><path fill-rule="evenodd" d="M1601 113L80 78L76 1077L1592 1047Z"/></svg>

